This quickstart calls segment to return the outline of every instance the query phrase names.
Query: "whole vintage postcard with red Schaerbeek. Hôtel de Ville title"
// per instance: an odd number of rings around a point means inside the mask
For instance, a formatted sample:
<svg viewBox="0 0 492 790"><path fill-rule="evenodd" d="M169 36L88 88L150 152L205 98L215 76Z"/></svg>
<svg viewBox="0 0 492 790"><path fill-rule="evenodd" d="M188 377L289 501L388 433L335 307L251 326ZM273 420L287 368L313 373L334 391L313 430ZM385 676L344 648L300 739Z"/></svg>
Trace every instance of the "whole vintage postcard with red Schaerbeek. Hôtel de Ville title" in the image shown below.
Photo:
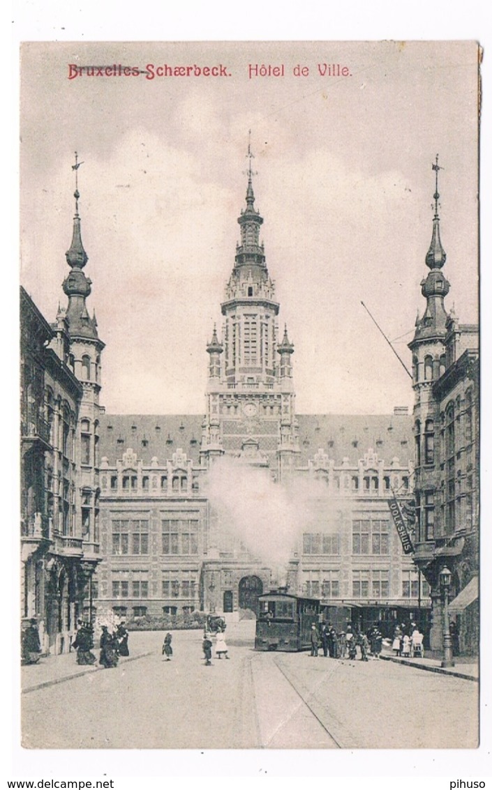
<svg viewBox="0 0 492 790"><path fill-rule="evenodd" d="M25 749L479 746L480 60L22 45Z"/></svg>

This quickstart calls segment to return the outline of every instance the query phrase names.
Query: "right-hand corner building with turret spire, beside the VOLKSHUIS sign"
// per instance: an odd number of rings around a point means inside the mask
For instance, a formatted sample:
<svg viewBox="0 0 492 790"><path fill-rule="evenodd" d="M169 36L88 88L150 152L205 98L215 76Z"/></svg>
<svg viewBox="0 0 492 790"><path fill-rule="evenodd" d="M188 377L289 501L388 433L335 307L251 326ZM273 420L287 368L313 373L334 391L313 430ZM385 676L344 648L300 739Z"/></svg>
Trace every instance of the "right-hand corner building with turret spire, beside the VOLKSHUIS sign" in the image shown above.
<svg viewBox="0 0 492 790"><path fill-rule="evenodd" d="M479 328L460 325L445 310L448 280L441 273L446 254L437 213L436 160L433 235L422 280L426 311L417 317L409 344L413 355L414 495L417 515L414 562L431 587L430 645L442 648L439 574L452 573L452 617L460 649L477 653L479 644ZM475 594L476 589L476 594ZM467 592L465 592L467 591Z"/></svg>

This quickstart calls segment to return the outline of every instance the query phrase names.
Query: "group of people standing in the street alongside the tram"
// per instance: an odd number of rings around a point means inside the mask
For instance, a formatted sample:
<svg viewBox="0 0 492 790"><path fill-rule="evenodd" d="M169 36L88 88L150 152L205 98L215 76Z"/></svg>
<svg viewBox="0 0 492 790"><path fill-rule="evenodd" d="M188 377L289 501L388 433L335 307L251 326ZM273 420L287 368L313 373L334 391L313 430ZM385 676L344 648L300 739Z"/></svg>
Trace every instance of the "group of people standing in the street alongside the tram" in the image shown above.
<svg viewBox="0 0 492 790"><path fill-rule="evenodd" d="M347 623L346 628L338 634L331 623L322 623L321 626L312 623L310 639L311 656L320 656L321 645L325 658L348 657L354 660L359 649L361 661L367 661L369 656L379 658L383 647L383 635L377 623L365 633Z"/></svg>

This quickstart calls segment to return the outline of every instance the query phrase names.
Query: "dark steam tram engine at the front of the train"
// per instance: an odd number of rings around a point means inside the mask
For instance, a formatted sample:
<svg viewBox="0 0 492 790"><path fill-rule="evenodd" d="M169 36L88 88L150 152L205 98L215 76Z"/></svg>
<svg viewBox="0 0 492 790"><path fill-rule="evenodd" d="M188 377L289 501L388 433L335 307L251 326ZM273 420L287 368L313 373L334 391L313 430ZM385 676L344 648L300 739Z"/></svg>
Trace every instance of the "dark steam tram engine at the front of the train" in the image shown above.
<svg viewBox="0 0 492 790"><path fill-rule="evenodd" d="M311 649L311 628L320 623L320 601L288 592L260 595L255 650L295 653Z"/></svg>

